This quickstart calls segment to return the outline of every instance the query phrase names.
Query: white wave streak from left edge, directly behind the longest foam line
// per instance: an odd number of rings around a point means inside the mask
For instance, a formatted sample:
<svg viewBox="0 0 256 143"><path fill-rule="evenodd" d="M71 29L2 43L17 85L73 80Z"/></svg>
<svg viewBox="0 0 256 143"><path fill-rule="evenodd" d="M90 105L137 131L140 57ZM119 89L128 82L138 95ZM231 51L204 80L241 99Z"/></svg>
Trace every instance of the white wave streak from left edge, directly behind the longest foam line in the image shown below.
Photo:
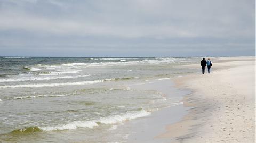
<svg viewBox="0 0 256 143"><path fill-rule="evenodd" d="M51 79L68 79L68 78L80 78L89 77L88 75L77 75L77 76L63 76L63 77L22 77L22 78L10 78L10 79L0 79L0 82L13 82L13 81L30 81L30 80L51 80Z"/></svg>

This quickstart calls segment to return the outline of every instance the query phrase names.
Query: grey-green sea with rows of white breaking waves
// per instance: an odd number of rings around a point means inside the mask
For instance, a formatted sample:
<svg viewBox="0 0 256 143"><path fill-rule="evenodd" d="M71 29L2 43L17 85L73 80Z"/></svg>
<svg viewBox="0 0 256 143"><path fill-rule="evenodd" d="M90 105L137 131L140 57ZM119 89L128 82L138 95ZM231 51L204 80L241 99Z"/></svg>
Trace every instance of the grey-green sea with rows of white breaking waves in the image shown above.
<svg viewBox="0 0 256 143"><path fill-rule="evenodd" d="M182 65L200 61L0 57L0 142L127 142L126 123L183 104L181 96L138 87L198 73Z"/></svg>

